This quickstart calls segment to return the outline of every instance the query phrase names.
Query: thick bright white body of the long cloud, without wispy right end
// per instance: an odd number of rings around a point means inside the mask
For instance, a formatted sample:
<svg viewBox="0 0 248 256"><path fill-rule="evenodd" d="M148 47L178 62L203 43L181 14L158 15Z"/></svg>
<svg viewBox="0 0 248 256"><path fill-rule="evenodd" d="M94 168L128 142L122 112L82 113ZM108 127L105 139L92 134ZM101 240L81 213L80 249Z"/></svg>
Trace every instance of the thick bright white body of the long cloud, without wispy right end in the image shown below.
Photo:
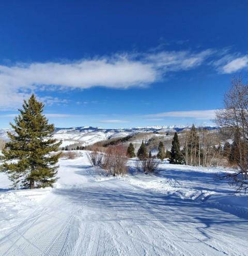
<svg viewBox="0 0 248 256"><path fill-rule="evenodd" d="M11 88L65 86L123 88L153 82L156 72L150 64L127 58L81 60L71 63L32 63L0 66L0 85Z"/></svg>

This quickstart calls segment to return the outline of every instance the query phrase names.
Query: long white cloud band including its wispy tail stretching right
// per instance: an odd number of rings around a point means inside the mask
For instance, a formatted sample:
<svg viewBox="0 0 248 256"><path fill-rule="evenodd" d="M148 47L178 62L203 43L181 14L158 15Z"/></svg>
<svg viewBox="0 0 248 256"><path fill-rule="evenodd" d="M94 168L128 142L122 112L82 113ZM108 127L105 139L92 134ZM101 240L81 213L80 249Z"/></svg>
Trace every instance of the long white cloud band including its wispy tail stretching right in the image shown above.
<svg viewBox="0 0 248 256"><path fill-rule="evenodd" d="M87 89L96 86L126 89L146 86L158 81L167 72L197 67L211 54L211 50L160 51L73 62L0 65L0 110L20 107L23 99L28 98L31 92L40 90ZM47 104L60 102L60 99L52 97L43 100Z"/></svg>

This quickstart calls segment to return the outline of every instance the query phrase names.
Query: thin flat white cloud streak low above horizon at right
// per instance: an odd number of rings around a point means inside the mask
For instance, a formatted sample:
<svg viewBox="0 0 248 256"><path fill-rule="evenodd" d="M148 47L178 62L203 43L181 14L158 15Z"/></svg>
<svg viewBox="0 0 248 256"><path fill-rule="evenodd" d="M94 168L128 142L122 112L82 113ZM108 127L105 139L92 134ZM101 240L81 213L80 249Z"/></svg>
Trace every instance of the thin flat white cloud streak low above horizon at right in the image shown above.
<svg viewBox="0 0 248 256"><path fill-rule="evenodd" d="M211 110L190 110L190 111L170 111L146 115L147 117L180 117L180 118L195 118L199 120L209 120L215 117L215 109Z"/></svg>

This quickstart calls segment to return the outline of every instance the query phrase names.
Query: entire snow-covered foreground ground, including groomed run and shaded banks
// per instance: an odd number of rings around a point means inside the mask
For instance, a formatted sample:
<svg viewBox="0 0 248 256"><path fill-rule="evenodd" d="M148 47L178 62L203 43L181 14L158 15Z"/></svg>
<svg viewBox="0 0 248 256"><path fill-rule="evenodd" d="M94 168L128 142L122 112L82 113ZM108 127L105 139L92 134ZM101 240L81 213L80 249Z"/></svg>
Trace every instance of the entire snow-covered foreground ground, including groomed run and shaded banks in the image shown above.
<svg viewBox="0 0 248 256"><path fill-rule="evenodd" d="M247 255L248 197L221 169L161 163L106 177L84 152L54 189L9 190L0 174L0 255Z"/></svg>

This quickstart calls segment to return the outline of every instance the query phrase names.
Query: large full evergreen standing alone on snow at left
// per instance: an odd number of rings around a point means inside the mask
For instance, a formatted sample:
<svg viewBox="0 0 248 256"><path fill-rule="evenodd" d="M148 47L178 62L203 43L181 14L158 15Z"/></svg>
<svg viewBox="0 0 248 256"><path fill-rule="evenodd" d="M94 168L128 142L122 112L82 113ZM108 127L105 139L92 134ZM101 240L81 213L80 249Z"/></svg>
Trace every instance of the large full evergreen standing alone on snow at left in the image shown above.
<svg viewBox="0 0 248 256"><path fill-rule="evenodd" d="M56 163L61 142L52 138L54 125L42 115L44 105L33 94L24 101L15 124L10 123L14 133L8 133L10 141L3 150L3 172L9 175L13 187L29 189L52 186L57 180Z"/></svg>

